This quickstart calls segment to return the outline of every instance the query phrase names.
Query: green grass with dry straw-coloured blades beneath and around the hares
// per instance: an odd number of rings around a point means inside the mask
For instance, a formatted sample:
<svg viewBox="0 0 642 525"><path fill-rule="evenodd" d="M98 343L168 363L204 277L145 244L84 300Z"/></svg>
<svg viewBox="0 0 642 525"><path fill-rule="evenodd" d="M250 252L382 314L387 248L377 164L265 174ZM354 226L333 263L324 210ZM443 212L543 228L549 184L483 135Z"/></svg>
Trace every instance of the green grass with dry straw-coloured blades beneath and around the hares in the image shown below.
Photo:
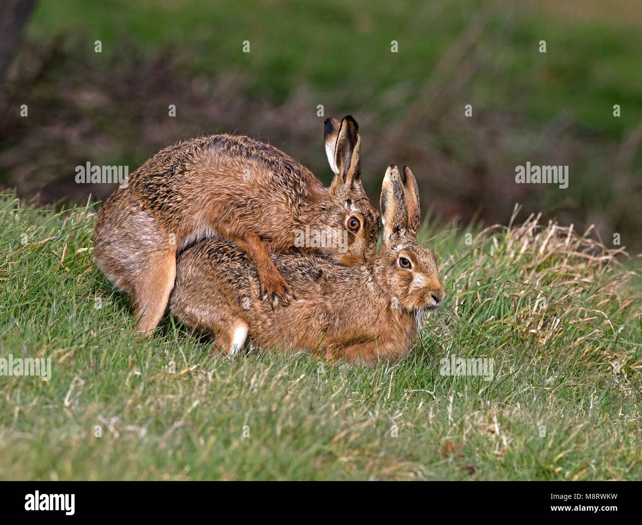
<svg viewBox="0 0 642 525"><path fill-rule="evenodd" d="M642 288L590 239L425 228L446 305L406 359L370 369L210 357L169 317L137 340L94 266L94 218L0 197L0 357L53 366L0 377L1 479L642 476ZM494 379L441 375L449 354L494 359Z"/></svg>

